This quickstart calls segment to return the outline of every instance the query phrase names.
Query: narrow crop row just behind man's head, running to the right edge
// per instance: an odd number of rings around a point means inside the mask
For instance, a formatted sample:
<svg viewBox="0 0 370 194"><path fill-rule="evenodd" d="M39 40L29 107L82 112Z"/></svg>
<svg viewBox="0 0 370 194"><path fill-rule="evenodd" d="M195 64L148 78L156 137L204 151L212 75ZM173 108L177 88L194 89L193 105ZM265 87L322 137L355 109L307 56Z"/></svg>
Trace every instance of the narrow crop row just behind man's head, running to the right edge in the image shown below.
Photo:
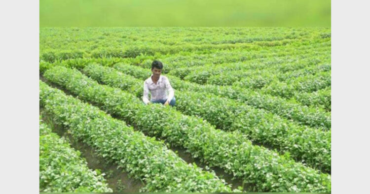
<svg viewBox="0 0 370 194"><path fill-rule="evenodd" d="M175 55L140 55L129 58L129 64L150 68L153 60L160 60L164 66L164 73L183 67L197 67L208 64L218 65L236 63L268 57L297 56L311 53L319 55L330 50L328 43L309 44L301 46L276 46L261 49L233 49L220 50L210 53L198 54L196 52L180 52Z"/></svg>

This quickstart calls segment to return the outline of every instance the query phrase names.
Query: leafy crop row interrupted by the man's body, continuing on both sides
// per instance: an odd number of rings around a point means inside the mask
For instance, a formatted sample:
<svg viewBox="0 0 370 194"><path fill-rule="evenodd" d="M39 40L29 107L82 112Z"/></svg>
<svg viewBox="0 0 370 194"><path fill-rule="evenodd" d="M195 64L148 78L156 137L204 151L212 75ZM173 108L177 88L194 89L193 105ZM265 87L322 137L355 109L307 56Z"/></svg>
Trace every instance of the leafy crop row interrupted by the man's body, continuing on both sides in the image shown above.
<svg viewBox="0 0 370 194"><path fill-rule="evenodd" d="M110 67L88 65L83 72L100 83L143 96L142 80ZM200 116L218 129L239 130L254 142L290 152L297 161L331 170L330 131L304 128L261 109L216 95L177 91L176 109Z"/></svg>

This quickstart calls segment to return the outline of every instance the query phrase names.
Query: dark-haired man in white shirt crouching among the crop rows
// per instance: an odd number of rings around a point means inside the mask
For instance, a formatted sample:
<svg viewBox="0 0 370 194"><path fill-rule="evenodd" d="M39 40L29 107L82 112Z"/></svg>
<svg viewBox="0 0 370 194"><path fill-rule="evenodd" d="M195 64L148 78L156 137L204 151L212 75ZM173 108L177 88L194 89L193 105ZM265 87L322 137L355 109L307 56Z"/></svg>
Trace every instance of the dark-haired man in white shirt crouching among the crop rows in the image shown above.
<svg viewBox="0 0 370 194"><path fill-rule="evenodd" d="M162 103L164 105L174 106L176 102L175 91L168 78L161 75L162 68L163 65L159 61L153 61L151 64L152 75L144 81L143 101L145 104ZM148 99L149 91L151 94L150 101Z"/></svg>

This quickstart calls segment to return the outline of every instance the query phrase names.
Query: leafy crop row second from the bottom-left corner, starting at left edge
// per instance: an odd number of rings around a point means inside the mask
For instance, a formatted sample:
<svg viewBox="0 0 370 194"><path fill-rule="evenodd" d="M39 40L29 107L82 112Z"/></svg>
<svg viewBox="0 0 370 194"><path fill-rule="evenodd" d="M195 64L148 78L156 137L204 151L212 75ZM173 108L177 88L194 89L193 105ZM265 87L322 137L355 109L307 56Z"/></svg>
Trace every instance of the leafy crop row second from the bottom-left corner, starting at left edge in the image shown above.
<svg viewBox="0 0 370 194"><path fill-rule="evenodd" d="M68 127L76 139L96 148L105 160L117 163L132 177L144 180L142 191L231 192L224 180L196 165L186 164L162 142L41 81L40 104L58 123Z"/></svg>

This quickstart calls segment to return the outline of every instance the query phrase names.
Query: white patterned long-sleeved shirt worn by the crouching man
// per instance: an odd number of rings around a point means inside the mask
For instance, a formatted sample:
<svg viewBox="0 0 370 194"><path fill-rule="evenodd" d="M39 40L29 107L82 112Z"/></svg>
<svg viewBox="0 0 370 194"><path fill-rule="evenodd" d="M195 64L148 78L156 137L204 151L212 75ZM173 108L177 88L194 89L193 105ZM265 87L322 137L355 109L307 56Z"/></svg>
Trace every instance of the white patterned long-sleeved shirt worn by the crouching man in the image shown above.
<svg viewBox="0 0 370 194"><path fill-rule="evenodd" d="M171 101L171 99L175 96L175 91L172 88L170 81L166 76L160 75L157 81L157 84L151 80L151 75L148 79L144 81L144 95L143 101L145 104L148 104L148 93L150 91L151 100L159 100L159 99L167 99L167 101ZM168 91L168 96L167 96Z"/></svg>

